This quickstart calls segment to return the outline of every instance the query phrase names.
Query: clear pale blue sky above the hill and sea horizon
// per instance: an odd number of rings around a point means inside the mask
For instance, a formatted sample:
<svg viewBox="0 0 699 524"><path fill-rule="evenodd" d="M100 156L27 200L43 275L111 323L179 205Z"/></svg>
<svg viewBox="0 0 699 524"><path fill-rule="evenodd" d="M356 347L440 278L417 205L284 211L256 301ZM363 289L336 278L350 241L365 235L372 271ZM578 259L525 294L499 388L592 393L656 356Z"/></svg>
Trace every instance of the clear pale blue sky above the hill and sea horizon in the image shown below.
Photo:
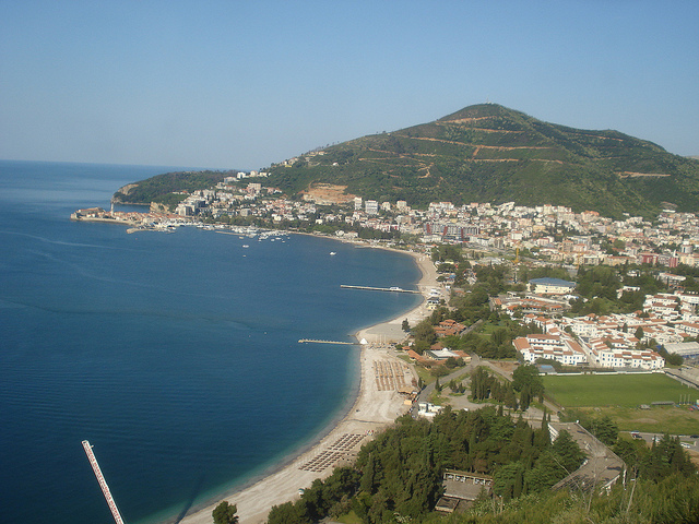
<svg viewBox="0 0 699 524"><path fill-rule="evenodd" d="M256 169L494 102L699 155L699 2L0 2L0 158Z"/></svg>

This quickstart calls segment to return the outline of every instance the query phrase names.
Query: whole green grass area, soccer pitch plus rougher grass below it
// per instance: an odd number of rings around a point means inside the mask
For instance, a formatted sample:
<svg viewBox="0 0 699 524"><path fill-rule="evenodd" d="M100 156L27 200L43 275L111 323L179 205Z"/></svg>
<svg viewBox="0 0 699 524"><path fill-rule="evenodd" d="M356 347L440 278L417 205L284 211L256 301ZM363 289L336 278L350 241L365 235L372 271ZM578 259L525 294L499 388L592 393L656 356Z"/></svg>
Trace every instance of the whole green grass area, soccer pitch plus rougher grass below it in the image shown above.
<svg viewBox="0 0 699 524"><path fill-rule="evenodd" d="M544 377L546 395L564 408L608 415L623 431L648 431L672 434L699 433L699 412L686 406L662 406L639 409L640 404L689 402L699 398L699 391L660 373L652 374L584 374Z"/></svg>

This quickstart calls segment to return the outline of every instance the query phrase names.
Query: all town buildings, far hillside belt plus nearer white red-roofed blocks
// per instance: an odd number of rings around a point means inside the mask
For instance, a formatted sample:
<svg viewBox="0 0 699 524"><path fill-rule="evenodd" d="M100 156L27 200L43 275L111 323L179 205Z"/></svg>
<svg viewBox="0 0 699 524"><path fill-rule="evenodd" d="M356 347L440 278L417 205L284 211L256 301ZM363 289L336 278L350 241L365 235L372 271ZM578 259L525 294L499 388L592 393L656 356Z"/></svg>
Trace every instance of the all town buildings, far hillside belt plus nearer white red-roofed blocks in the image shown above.
<svg viewBox="0 0 699 524"><path fill-rule="evenodd" d="M512 282L524 263L562 266L570 274L581 265L652 266L672 293L647 295L635 312L564 317L560 313L580 297L574 282L560 278L530 279L520 285L520 293L493 297L490 307L542 331L512 341L521 358L531 364L544 359L580 368L660 370L665 359L655 345L686 359L699 357L699 344L694 342L699 335L699 295L685 293L685 276L670 272L680 264L699 265L695 214L665 210L653 222L640 216L612 219L592 211L573 213L564 206L525 207L513 202L462 206L438 202L415 210L405 201L363 200L328 184L289 200L280 189L263 186L265 178L263 171L226 177L214 188L182 194L174 212L157 205L147 213L94 207L79 210L72 218L125 223L131 226L129 233L198 225L245 233L288 229L423 251L435 245L459 245L487 253L475 264L512 265ZM628 274L635 276L633 271ZM445 272L448 288L453 277L454 273ZM465 277L475 282L473 272ZM617 298L638 290L620 287Z"/></svg>

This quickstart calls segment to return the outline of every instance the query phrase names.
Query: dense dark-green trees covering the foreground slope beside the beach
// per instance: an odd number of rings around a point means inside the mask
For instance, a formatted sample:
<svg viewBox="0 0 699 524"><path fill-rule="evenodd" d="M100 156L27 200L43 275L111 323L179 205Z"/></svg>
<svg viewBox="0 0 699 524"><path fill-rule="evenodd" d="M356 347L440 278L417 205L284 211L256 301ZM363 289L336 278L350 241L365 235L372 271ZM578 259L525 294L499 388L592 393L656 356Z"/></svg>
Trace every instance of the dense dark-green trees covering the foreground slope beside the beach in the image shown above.
<svg viewBox="0 0 699 524"><path fill-rule="evenodd" d="M552 491L584 460L566 431L552 442L546 424L532 427L494 406L447 408L433 422L406 415L365 444L352 466L315 480L298 501L274 507L268 523L343 515L367 524L697 522L699 479L676 439L665 437L651 449L619 439L613 445L627 461L626 484L609 495ZM491 475L493 497L482 492L459 514L434 512L448 468Z"/></svg>

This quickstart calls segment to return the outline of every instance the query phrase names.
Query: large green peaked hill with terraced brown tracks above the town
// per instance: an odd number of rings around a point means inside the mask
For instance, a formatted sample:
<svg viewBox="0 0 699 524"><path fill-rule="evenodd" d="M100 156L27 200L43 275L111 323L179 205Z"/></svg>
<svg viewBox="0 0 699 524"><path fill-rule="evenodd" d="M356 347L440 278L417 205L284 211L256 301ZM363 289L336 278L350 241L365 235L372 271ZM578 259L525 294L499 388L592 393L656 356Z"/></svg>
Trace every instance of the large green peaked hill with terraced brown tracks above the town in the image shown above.
<svg viewBox="0 0 699 524"><path fill-rule="evenodd" d="M271 168L295 193L316 182L377 201L550 203L651 216L668 203L696 211L699 162L617 131L543 122L496 104L363 136Z"/></svg>

